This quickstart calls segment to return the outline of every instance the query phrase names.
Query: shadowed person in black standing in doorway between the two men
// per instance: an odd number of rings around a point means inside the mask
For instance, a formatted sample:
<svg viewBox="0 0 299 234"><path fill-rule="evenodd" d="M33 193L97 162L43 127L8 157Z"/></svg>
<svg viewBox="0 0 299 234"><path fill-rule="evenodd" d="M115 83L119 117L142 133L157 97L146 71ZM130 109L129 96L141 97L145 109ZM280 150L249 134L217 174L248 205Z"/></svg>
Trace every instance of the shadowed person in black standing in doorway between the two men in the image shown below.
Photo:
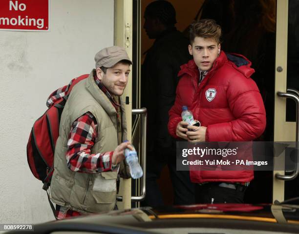
<svg viewBox="0 0 299 234"><path fill-rule="evenodd" d="M163 205L156 180L168 165L174 204L192 204L194 185L188 172L176 171L176 144L167 130L168 111L174 103L180 65L192 57L189 41L175 28L176 13L169 1L151 2L145 10L144 29L155 39L142 66L142 106L148 109L147 196L143 205Z"/></svg>

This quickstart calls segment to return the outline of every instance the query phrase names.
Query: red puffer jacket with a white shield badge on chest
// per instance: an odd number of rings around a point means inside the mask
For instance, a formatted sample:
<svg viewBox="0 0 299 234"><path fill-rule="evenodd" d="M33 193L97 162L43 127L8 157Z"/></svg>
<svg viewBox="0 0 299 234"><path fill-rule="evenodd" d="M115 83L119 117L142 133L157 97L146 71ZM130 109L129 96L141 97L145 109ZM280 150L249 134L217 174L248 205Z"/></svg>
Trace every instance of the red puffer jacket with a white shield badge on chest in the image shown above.
<svg viewBox="0 0 299 234"><path fill-rule="evenodd" d="M229 58L229 59L228 59ZM168 129L176 136L182 121L182 106L206 126L206 141L252 141L266 126L266 113L251 62L241 55L221 51L213 67L198 86L199 70L194 60L181 66L182 78L176 89L175 103L169 111ZM248 182L253 171L190 171L192 182Z"/></svg>

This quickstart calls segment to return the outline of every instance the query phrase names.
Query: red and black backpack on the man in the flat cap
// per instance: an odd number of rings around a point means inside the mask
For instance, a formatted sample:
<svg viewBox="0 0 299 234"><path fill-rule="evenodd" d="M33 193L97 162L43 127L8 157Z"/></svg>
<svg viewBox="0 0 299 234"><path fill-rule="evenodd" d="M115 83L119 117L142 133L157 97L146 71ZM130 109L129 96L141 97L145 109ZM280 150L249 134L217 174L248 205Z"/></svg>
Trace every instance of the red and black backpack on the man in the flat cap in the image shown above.
<svg viewBox="0 0 299 234"><path fill-rule="evenodd" d="M43 182L45 191L48 190L51 184L54 172L55 145L59 137L59 123L64 105L74 85L88 76L82 75L74 79L66 95L49 106L45 113L34 122L31 129L27 143L27 161L33 176ZM55 209L48 192L47 195L56 218Z"/></svg>

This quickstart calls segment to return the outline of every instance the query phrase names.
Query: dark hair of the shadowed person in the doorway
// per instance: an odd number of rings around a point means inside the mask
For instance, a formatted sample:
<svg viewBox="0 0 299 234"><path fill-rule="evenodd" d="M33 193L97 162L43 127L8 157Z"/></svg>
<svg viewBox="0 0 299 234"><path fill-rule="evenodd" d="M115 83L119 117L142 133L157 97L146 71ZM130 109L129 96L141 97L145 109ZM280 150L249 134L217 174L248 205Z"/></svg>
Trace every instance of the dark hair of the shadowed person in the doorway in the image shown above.
<svg viewBox="0 0 299 234"><path fill-rule="evenodd" d="M157 17L165 25L174 25L176 23L175 9L172 4L166 0L156 0L149 3L144 15Z"/></svg>

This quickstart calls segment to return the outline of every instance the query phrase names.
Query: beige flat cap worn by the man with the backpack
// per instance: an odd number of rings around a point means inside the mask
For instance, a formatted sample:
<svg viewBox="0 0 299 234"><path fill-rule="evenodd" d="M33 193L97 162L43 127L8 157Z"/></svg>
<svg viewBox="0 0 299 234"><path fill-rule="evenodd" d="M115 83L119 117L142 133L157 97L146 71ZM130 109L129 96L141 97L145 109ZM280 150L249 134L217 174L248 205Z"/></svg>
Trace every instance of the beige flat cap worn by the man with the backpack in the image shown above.
<svg viewBox="0 0 299 234"><path fill-rule="evenodd" d="M116 63L121 60L127 60L130 64L133 64L132 61L129 59L126 50L120 46L111 46L104 48L103 50L99 51L94 60L96 62L96 68L98 67L113 67Z"/></svg>

